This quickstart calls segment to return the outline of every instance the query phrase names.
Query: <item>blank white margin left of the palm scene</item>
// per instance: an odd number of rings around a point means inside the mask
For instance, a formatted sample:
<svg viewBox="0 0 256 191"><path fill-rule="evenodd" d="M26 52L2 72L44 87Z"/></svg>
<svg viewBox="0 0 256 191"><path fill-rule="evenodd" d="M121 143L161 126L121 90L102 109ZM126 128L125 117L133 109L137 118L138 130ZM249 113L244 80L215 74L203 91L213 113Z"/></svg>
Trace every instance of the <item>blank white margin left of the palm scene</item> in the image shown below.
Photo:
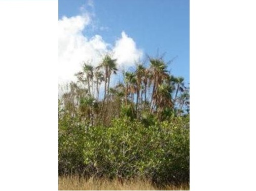
<svg viewBox="0 0 256 191"><path fill-rule="evenodd" d="M3 190L58 190L58 1L0 1Z"/></svg>

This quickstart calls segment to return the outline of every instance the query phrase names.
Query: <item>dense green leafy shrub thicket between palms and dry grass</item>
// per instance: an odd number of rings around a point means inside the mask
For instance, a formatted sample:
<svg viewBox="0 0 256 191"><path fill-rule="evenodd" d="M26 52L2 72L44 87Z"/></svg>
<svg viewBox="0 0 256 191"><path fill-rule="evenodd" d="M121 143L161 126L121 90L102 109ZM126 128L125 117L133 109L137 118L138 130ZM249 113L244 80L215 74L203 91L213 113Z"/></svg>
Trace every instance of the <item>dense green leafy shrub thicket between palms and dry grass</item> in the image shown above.
<svg viewBox="0 0 256 191"><path fill-rule="evenodd" d="M149 127L126 117L109 127L72 126L74 121L59 123L59 173L139 177L157 184L189 181L189 117Z"/></svg>

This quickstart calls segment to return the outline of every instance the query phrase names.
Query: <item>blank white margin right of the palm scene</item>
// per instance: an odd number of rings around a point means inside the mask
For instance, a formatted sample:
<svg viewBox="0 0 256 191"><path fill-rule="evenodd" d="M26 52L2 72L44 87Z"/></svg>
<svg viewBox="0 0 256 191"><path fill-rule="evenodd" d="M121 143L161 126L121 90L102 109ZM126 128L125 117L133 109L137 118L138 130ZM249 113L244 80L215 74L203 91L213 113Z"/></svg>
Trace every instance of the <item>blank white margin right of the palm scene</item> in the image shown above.
<svg viewBox="0 0 256 191"><path fill-rule="evenodd" d="M190 188L252 190L256 2L190 3Z"/></svg>

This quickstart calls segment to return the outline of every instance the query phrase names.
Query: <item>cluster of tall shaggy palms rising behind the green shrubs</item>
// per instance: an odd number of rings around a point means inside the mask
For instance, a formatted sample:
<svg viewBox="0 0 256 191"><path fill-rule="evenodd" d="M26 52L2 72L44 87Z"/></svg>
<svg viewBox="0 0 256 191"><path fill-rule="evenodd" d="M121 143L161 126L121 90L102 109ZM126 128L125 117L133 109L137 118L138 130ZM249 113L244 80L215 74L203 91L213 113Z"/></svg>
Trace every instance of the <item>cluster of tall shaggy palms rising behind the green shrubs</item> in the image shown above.
<svg viewBox="0 0 256 191"><path fill-rule="evenodd" d="M60 102L65 111L92 126L107 126L122 115L163 121L171 115L189 114L189 87L184 78L171 75L163 57L148 57L148 61L148 67L139 63L133 72L118 70L117 60L109 55L97 67L84 63L82 71L75 74L77 82L69 83ZM111 87L111 79L118 72L123 80Z"/></svg>

